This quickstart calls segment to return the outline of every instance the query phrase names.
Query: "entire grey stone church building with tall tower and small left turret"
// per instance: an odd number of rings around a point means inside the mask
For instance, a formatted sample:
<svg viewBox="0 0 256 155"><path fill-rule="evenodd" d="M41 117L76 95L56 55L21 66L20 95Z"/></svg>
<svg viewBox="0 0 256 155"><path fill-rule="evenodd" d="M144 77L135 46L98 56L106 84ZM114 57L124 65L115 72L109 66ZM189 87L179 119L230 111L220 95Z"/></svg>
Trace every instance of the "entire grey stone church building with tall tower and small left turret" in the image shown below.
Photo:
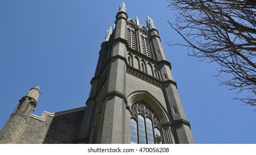
<svg viewBox="0 0 256 155"><path fill-rule="evenodd" d="M0 132L0 143L194 143L158 30L128 18L122 3L101 44L85 107L32 114L30 89Z"/></svg>

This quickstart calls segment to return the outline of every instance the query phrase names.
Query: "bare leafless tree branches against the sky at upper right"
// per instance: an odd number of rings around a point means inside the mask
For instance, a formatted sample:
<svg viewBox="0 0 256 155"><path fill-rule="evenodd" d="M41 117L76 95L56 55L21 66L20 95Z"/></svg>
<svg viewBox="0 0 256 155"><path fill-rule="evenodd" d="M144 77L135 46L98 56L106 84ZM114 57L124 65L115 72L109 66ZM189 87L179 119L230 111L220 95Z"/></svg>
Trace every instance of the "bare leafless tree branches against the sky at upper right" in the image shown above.
<svg viewBox="0 0 256 155"><path fill-rule="evenodd" d="M188 55L218 63L221 85L248 91L236 99L256 105L256 1L167 1L177 11L168 22L188 43Z"/></svg>

